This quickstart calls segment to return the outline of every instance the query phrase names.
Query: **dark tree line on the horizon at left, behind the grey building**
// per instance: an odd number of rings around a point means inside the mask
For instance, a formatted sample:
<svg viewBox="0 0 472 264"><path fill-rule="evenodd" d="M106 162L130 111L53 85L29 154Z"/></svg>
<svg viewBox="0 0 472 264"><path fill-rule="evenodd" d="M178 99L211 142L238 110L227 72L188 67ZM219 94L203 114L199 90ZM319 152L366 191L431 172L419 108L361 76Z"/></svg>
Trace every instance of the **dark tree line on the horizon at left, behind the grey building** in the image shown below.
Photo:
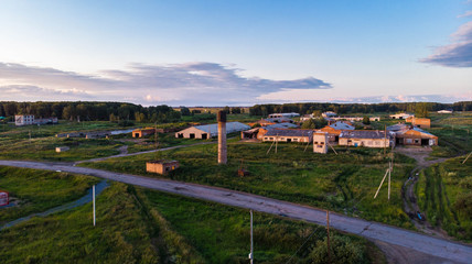
<svg viewBox="0 0 472 264"><path fill-rule="evenodd" d="M71 121L175 122L181 113L169 106L142 107L127 102L14 102L0 101L0 117L34 114L36 118L56 117Z"/></svg>

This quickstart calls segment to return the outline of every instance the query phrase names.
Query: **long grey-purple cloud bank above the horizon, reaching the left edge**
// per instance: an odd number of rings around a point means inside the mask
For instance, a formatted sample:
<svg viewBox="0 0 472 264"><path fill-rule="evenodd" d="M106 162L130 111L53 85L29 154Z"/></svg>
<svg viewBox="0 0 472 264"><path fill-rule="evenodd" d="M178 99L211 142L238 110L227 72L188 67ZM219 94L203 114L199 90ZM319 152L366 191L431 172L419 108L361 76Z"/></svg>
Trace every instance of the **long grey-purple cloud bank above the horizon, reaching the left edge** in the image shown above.
<svg viewBox="0 0 472 264"><path fill-rule="evenodd" d="M215 63L131 64L126 69L93 75L0 63L0 91L7 92L11 100L25 100L26 95L39 98L42 95L40 100L45 100L51 95L57 100L72 97L72 100L93 98L142 105L224 106L251 103L264 94L287 89L332 88L314 77L273 80L243 77L239 73L240 69ZM22 92L12 92L12 87Z"/></svg>

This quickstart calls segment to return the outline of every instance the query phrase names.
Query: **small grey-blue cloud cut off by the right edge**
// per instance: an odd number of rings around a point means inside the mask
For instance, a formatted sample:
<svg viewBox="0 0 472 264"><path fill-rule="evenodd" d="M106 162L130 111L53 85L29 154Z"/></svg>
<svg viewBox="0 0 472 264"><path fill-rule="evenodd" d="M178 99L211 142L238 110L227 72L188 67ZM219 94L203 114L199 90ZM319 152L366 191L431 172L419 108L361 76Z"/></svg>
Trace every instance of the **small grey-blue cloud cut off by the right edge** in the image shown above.
<svg viewBox="0 0 472 264"><path fill-rule="evenodd" d="M446 67L472 67L472 21L461 25L451 37L454 43L438 47L435 54L420 62Z"/></svg>

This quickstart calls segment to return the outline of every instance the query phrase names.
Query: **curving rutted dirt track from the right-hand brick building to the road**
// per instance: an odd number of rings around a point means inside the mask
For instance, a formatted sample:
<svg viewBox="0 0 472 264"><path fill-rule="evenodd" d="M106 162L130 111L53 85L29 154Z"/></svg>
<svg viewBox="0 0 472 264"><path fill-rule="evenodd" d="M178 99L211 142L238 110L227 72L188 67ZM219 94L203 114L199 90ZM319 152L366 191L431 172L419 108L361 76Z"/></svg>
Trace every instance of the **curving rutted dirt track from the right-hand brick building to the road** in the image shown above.
<svg viewBox="0 0 472 264"><path fill-rule="evenodd" d="M397 147L395 148L395 152L415 158L417 162L417 166L410 172L409 178L405 182L401 189L405 212L410 217L418 230L427 234L438 235L439 238L451 240L452 238L449 237L444 230L432 227L432 224L428 222L428 220L425 218L425 213L421 212L418 206L415 195L415 185L418 182L418 173L433 164L442 163L448 158L441 157L436 160L427 160L432 152L430 147ZM419 219L418 213L420 213L421 219Z"/></svg>

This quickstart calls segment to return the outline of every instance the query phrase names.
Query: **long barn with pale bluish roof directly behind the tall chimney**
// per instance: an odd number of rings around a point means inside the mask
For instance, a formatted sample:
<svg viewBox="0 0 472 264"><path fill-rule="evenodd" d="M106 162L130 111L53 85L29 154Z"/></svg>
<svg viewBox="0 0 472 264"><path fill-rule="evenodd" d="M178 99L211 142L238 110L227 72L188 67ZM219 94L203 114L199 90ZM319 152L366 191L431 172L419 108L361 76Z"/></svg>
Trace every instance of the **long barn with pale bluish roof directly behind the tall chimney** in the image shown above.
<svg viewBox="0 0 472 264"><path fill-rule="evenodd" d="M226 123L226 133L234 133L244 130L250 129L249 125L239 123L239 122L228 122ZM204 124L191 127L189 129L181 130L175 133L175 138L178 139L202 139L207 140L213 136L218 135L218 124Z"/></svg>

